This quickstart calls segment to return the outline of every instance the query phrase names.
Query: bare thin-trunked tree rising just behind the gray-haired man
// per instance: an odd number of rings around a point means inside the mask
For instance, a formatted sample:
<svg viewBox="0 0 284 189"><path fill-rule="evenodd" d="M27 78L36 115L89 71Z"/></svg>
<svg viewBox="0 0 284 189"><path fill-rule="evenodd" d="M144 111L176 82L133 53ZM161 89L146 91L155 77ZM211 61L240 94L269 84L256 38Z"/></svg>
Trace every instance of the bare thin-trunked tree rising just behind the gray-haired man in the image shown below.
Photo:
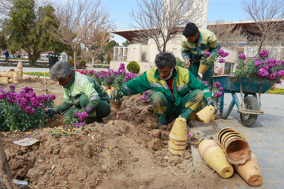
<svg viewBox="0 0 284 189"><path fill-rule="evenodd" d="M76 62L77 48L83 43L88 29L91 27L92 12L99 6L100 1L68 0L60 7L54 19L57 27L53 27L53 38L73 50L74 62ZM76 63L74 64L76 69Z"/></svg>

